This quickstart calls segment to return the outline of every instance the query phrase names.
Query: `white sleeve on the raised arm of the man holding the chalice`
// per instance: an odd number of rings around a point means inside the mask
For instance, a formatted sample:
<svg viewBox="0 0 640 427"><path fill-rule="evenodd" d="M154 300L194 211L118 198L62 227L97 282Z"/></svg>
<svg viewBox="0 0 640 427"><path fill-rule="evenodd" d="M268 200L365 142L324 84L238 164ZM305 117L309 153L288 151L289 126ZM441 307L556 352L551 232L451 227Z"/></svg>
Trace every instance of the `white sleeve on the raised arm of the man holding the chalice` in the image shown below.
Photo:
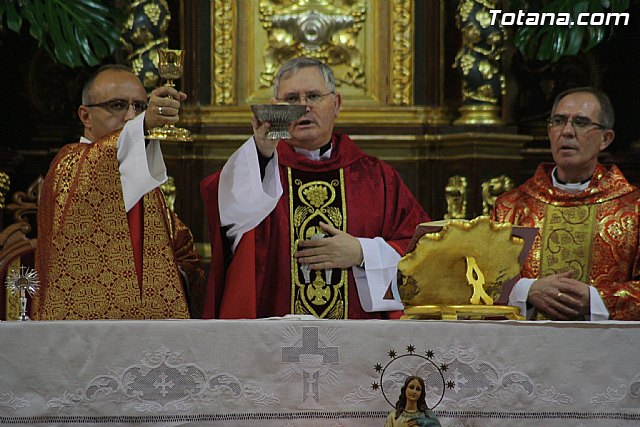
<svg viewBox="0 0 640 427"><path fill-rule="evenodd" d="M122 196L127 212L149 191L167 180L167 167L162 158L160 141L145 146L144 116L125 123L118 138L118 164Z"/></svg>

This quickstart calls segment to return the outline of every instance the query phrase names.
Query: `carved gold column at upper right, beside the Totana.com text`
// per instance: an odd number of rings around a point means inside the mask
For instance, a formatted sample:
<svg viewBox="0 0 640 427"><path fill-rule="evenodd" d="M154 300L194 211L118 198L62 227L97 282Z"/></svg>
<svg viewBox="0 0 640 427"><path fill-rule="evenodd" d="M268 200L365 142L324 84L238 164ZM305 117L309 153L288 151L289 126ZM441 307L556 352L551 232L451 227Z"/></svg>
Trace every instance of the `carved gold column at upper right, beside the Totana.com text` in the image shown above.
<svg viewBox="0 0 640 427"><path fill-rule="evenodd" d="M489 10L499 9L499 0L460 0L456 25L462 47L454 67L462 79L463 105L454 124L502 125L500 101L505 91L500 59L506 32L491 25Z"/></svg>

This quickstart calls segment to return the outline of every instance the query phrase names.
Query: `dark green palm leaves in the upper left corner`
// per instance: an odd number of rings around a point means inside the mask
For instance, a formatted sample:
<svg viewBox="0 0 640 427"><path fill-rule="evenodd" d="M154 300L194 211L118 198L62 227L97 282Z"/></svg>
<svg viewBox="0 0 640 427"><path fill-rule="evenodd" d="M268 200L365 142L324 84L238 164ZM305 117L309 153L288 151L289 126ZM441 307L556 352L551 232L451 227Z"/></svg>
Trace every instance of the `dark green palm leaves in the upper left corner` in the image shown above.
<svg viewBox="0 0 640 427"><path fill-rule="evenodd" d="M91 0L2 0L0 28L17 33L27 23L29 34L54 61L94 66L120 45L124 13Z"/></svg>

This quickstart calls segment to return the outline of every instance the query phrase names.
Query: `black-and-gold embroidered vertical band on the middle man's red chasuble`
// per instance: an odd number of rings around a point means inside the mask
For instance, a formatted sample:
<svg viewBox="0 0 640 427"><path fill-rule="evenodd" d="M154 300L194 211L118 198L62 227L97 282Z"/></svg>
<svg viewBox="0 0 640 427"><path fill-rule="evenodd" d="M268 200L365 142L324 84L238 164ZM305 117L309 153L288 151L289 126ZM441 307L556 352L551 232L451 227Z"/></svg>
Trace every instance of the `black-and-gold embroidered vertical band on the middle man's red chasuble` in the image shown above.
<svg viewBox="0 0 640 427"><path fill-rule="evenodd" d="M291 313L346 319L349 312L346 269L311 270L294 257L301 240L325 237L320 222L347 230L344 170L317 173L287 168L291 232Z"/></svg>

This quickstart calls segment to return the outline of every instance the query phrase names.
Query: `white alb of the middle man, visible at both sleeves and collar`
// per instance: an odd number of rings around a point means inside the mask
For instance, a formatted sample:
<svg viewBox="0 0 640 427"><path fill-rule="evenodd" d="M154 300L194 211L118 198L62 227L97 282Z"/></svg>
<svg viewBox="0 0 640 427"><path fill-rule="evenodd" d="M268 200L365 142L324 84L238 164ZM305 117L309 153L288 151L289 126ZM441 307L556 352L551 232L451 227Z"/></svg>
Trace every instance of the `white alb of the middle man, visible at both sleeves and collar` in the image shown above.
<svg viewBox="0 0 640 427"><path fill-rule="evenodd" d="M307 155L306 150L297 149ZM317 150L309 152L313 157ZM235 251L242 235L257 227L269 215L282 197L283 189L278 170L278 154L267 164L264 180L260 176L258 152L253 138L246 141L227 160L220 173L218 186L218 209L220 225L228 227L227 237ZM364 254L366 269L352 268L358 297L363 310L402 310L397 297L396 274L400 255L382 238L358 238ZM385 300L384 295L392 284L395 300Z"/></svg>

